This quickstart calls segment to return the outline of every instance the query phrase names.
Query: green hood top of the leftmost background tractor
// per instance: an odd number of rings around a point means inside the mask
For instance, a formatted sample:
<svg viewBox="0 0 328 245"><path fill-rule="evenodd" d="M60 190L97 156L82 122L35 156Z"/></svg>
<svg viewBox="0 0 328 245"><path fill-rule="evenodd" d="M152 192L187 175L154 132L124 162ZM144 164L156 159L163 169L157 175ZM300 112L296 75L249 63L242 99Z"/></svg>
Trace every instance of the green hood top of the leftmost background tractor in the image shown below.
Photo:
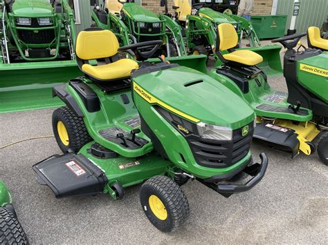
<svg viewBox="0 0 328 245"><path fill-rule="evenodd" d="M53 6L47 0L16 0L12 12L19 17L51 17Z"/></svg>

